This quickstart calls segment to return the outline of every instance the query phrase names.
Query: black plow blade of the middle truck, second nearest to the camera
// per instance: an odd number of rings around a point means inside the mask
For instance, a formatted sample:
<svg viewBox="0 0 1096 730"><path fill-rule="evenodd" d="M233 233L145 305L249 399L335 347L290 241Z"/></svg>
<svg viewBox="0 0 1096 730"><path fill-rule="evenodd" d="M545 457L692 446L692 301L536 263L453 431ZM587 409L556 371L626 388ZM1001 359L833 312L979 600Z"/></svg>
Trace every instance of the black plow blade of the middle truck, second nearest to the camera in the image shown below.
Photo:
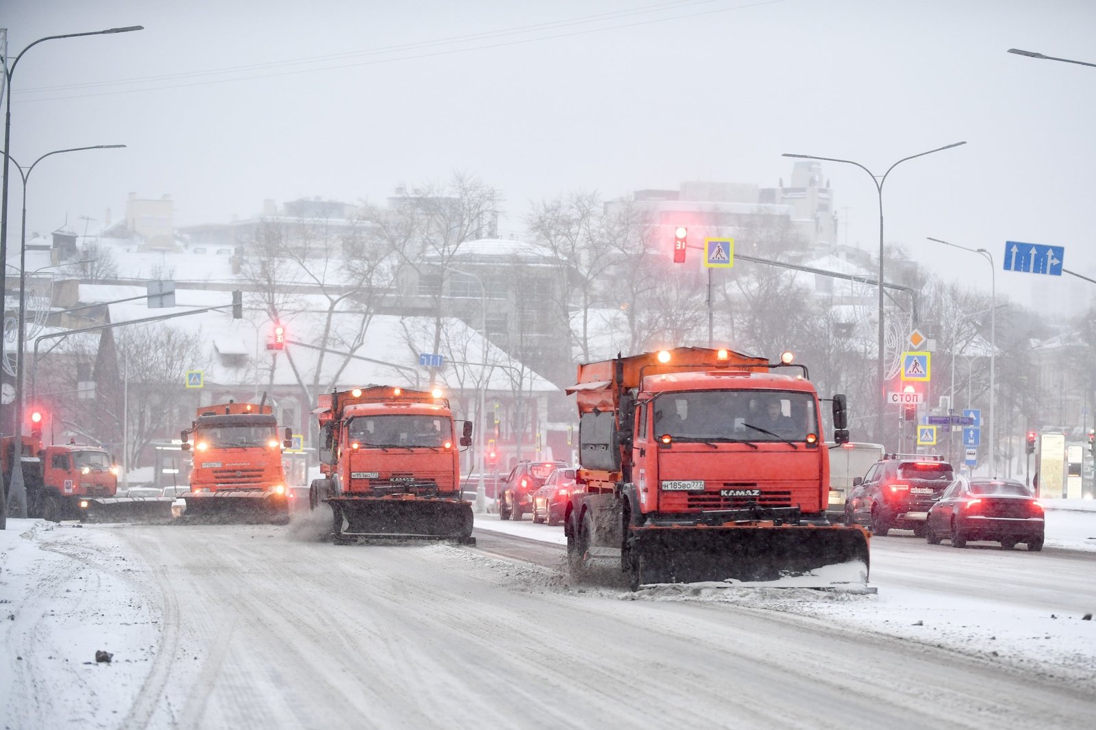
<svg viewBox="0 0 1096 730"><path fill-rule="evenodd" d="M460 500L332 497L336 543L369 539L455 540L475 545L472 507Z"/></svg>

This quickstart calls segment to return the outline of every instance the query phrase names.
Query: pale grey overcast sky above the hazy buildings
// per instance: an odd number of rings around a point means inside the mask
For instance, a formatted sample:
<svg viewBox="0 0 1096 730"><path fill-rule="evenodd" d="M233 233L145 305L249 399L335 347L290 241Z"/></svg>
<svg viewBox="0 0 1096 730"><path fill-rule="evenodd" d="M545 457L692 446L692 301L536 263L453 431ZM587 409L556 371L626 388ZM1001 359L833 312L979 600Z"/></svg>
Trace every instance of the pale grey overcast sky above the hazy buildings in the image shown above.
<svg viewBox="0 0 1096 730"><path fill-rule="evenodd" d="M16 160L129 146L43 162L28 229L66 216L78 230L80 216L95 226L107 207L117 219L130 191L170 193L189 225L253 216L263 198L379 201L399 183L461 170L503 192L503 229L516 232L530 199L559 192L774 185L790 176L781 152L881 174L967 140L891 174L888 242L980 287L986 264L925 237L985 247L998 269L1005 240L1064 246L1065 266L1096 277L1096 68L1006 53L1096 62L1096 3L655 2L7 0L0 25L13 54L44 35L146 26L52 41L20 61ZM514 32L536 24L549 25ZM492 35L437 43L472 34ZM403 44L415 45L391 49ZM347 55L275 66L334 54ZM241 66L254 68L221 72ZM114 81L125 83L90 85ZM867 174L823 170L848 242L877 250ZM15 176L9 241L21 194ZM1024 301L1028 282L997 274L998 292ZM1087 299L1094 286L1057 292Z"/></svg>

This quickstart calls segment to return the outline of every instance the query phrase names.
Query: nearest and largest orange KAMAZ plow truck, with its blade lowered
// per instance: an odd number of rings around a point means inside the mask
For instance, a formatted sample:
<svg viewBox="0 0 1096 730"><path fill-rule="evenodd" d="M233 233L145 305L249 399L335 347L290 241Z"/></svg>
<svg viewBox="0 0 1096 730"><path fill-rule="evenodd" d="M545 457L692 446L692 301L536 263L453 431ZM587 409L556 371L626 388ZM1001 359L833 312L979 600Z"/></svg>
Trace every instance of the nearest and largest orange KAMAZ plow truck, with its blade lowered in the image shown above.
<svg viewBox="0 0 1096 730"><path fill-rule="evenodd" d="M791 360L677 347L580 365L568 388L584 490L564 517L572 575L610 558L633 591L866 582L868 533L826 520L819 397ZM844 396L833 397L833 421L834 442L847 442Z"/></svg>

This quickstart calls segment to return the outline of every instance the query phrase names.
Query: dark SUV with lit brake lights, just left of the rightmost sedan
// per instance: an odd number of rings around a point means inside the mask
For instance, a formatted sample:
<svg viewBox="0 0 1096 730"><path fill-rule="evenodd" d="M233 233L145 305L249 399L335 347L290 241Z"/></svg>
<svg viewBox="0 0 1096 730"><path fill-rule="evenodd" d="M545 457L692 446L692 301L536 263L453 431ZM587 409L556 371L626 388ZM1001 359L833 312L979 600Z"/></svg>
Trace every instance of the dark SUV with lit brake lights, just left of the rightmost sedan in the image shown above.
<svg viewBox="0 0 1096 730"><path fill-rule="evenodd" d="M940 456L887 454L863 479L853 479L845 524L868 525L876 535L897 527L924 537L928 509L952 481L951 465Z"/></svg>

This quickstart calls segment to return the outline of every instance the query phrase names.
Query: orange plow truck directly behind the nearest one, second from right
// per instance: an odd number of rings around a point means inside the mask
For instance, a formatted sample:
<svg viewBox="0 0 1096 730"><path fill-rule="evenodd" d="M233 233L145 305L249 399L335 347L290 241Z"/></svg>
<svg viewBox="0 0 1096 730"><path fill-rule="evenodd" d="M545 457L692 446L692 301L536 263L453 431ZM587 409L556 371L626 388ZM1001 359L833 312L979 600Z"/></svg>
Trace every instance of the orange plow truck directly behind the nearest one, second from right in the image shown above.
<svg viewBox="0 0 1096 730"><path fill-rule="evenodd" d="M430 392L369 386L324 393L320 471L309 505L331 505L335 543L443 539L475 544L471 504L460 494L460 454L449 401Z"/></svg>

